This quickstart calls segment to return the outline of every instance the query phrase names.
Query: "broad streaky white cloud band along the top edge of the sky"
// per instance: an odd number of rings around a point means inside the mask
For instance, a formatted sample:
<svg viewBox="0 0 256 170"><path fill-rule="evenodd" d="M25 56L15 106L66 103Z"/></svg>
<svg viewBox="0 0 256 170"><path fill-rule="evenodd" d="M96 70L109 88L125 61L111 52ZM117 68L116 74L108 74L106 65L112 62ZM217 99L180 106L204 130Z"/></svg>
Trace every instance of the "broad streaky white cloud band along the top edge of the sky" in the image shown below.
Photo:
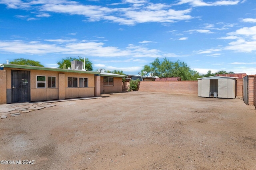
<svg viewBox="0 0 256 170"><path fill-rule="evenodd" d="M21 0L0 1L0 4L6 4L8 8L24 10L38 9L41 12L82 15L87 18L84 20L86 22L106 20L124 25L135 25L144 22L172 23L192 19L192 16L188 15L192 9L173 10L166 4L153 4L146 0L126 0L124 3L133 4L133 6L108 8L96 5L82 5L78 2L67 0L38 0L31 2L22 2ZM36 16L49 17L50 14L44 13Z"/></svg>

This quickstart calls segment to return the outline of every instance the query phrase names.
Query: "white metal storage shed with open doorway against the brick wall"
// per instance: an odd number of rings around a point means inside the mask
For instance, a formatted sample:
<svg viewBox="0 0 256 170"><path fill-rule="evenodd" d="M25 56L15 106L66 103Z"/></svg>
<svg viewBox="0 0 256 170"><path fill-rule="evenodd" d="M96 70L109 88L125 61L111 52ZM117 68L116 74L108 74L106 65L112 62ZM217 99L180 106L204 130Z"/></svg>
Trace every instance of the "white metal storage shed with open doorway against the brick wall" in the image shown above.
<svg viewBox="0 0 256 170"><path fill-rule="evenodd" d="M236 98L236 77L198 78L198 97Z"/></svg>

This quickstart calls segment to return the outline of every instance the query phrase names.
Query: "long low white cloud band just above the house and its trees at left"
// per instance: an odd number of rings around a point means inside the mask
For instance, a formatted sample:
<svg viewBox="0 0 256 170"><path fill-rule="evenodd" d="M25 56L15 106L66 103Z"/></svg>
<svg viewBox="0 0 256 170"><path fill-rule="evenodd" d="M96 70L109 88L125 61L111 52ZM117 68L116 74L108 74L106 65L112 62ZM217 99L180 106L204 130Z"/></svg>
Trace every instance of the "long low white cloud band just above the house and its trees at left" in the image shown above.
<svg viewBox="0 0 256 170"><path fill-rule="evenodd" d="M76 39L53 39L38 41L0 41L2 53L19 53L42 55L49 53L60 53L70 55L89 55L92 57L162 57L162 51L149 49L144 46L128 45L125 49L104 46L102 42L78 41ZM49 42L49 43L47 43Z"/></svg>

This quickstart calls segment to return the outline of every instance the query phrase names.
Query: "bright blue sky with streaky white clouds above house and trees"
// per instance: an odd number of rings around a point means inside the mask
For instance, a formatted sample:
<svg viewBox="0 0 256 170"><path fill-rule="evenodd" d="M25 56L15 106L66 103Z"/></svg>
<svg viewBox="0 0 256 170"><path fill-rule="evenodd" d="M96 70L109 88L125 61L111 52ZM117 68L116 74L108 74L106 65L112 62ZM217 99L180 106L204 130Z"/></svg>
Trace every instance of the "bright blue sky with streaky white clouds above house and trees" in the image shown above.
<svg viewBox="0 0 256 170"><path fill-rule="evenodd" d="M78 56L126 74L156 57L256 74L256 1L0 0L0 63Z"/></svg>

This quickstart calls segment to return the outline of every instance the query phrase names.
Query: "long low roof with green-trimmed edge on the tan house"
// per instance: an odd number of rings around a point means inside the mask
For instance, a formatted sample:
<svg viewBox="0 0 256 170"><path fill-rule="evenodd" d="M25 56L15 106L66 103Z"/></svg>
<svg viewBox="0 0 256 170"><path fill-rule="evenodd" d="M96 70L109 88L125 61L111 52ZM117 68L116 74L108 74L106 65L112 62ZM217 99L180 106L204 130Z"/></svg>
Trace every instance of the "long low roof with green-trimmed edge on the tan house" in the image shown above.
<svg viewBox="0 0 256 170"><path fill-rule="evenodd" d="M87 73L87 74L100 75L100 73L98 71L59 69L59 68L38 67L38 66L30 66L30 65L17 65L17 64L2 64L2 65L0 65L0 68L3 68L3 67L13 68L13 69L31 69L31 70L59 71L59 72L69 72L69 73ZM101 76L128 77L126 75L119 75L119 74L113 74L113 73L101 73Z"/></svg>

